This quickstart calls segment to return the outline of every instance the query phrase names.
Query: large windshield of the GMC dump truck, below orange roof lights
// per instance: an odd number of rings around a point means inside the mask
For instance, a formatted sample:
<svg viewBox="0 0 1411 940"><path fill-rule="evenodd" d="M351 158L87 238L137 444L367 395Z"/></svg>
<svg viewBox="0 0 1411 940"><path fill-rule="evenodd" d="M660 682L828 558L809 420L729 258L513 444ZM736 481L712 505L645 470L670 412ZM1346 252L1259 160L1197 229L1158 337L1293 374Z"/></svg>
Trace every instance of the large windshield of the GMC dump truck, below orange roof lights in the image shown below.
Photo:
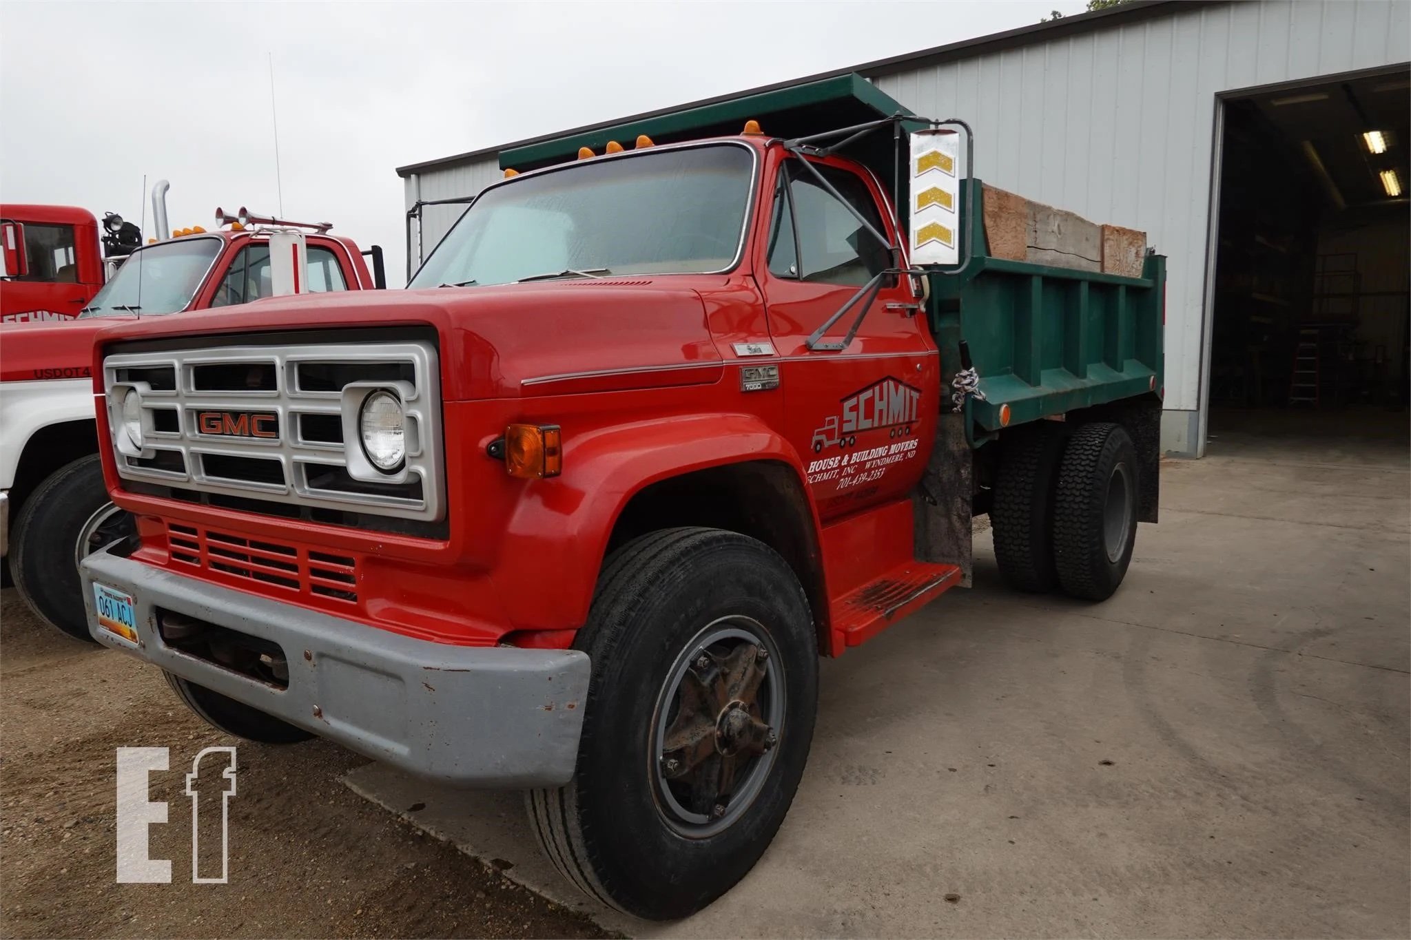
<svg viewBox="0 0 1411 940"><path fill-rule="evenodd" d="M411 287L725 271L735 264L755 156L739 145L632 154L485 190Z"/></svg>

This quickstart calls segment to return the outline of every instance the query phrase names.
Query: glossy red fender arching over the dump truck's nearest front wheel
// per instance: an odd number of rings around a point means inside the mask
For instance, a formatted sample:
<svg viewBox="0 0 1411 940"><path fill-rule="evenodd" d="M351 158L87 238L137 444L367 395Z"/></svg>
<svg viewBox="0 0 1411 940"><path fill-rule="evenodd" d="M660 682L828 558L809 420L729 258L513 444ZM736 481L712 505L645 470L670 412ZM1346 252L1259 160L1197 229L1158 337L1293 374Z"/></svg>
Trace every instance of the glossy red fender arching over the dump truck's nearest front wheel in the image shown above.
<svg viewBox="0 0 1411 940"><path fill-rule="evenodd" d="M519 499L492 578L521 630L570 630L588 619L602 555L639 490L693 471L776 461L807 479L797 451L751 414L621 424L566 441L563 475ZM810 502L814 530L817 509Z"/></svg>

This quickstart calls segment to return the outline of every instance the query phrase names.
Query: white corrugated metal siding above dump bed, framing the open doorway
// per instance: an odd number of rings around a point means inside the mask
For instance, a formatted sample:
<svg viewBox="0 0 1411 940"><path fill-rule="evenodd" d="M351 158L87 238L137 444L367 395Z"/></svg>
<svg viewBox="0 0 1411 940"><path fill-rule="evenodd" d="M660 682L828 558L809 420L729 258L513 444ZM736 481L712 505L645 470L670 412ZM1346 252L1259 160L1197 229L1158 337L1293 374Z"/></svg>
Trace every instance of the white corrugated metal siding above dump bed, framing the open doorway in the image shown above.
<svg viewBox="0 0 1411 940"><path fill-rule="evenodd" d="M1199 406L1215 96L1411 61L1407 0L1199 7L876 79L975 128L989 183L1141 228L1170 256L1165 406Z"/></svg>

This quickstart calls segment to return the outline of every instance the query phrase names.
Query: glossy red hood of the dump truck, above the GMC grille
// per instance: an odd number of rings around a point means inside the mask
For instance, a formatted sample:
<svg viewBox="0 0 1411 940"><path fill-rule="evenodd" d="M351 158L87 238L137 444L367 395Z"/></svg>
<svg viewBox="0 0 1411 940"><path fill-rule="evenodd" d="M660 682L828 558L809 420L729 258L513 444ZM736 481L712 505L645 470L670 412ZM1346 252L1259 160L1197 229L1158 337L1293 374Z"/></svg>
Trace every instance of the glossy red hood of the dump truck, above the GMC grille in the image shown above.
<svg viewBox="0 0 1411 940"><path fill-rule="evenodd" d="M350 290L257 300L229 311L113 324L99 350L121 341L278 330L433 327L442 397L533 395L526 381L700 362L720 365L696 287L722 276L612 278L498 287ZM336 337L334 337L336 338Z"/></svg>

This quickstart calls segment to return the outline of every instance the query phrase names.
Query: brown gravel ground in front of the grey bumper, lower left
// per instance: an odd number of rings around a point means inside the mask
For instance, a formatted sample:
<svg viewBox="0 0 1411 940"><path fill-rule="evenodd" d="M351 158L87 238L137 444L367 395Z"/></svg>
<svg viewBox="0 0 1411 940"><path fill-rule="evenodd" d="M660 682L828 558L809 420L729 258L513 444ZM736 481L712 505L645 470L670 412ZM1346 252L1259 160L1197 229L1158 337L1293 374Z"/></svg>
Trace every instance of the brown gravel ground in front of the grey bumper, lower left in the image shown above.
<svg viewBox="0 0 1411 940"><path fill-rule="evenodd" d="M220 734L157 669L61 636L14 589L0 592L0 740L4 937L608 936L354 795L339 777L364 758ZM182 793L213 744L238 747L224 885L190 884ZM172 860L172 884L120 885L114 754L152 746L171 769L150 781L168 802L150 855Z"/></svg>

